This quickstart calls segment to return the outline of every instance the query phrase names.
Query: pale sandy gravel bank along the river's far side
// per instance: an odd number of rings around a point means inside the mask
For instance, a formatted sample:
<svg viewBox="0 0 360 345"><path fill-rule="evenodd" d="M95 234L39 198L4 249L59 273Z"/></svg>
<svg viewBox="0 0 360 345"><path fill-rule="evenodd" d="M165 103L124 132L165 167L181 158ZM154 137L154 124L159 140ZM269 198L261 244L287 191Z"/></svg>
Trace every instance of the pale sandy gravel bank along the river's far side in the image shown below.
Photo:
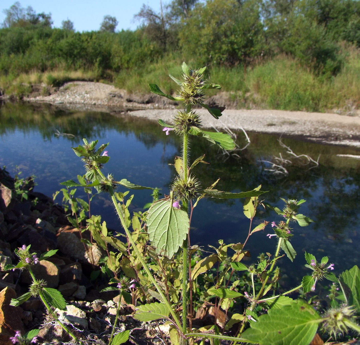
<svg viewBox="0 0 360 345"><path fill-rule="evenodd" d="M34 95L36 96L36 95ZM171 121L177 103L154 94L129 94L113 85L74 81L64 84L50 96L29 97L30 102L52 103L67 109L110 112L114 115L129 112L132 116ZM235 110L221 95L209 103L227 106L219 120L199 109L206 128L229 127L234 130L283 134L302 140L360 148L360 117L338 114L308 113L282 110ZM139 110L140 109L140 110Z"/></svg>

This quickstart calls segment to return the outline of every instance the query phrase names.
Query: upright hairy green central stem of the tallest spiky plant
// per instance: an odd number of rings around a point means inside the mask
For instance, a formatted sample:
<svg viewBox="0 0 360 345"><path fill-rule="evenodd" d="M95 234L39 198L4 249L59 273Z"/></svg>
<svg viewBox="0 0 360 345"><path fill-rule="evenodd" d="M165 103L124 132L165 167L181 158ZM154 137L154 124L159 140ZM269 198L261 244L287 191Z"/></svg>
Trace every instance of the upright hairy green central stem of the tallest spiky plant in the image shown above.
<svg viewBox="0 0 360 345"><path fill-rule="evenodd" d="M189 134L183 134L183 168L184 168L184 182L188 181L188 148L189 148ZM189 211L189 203L187 200L182 200L183 206L186 211ZM190 229L189 229L190 231ZM188 237L183 243L183 289L181 291L181 297L183 298L183 333L185 334L188 327L188 282L189 282L189 242ZM190 315L192 317L192 315ZM188 344L187 339L181 339L181 345Z"/></svg>

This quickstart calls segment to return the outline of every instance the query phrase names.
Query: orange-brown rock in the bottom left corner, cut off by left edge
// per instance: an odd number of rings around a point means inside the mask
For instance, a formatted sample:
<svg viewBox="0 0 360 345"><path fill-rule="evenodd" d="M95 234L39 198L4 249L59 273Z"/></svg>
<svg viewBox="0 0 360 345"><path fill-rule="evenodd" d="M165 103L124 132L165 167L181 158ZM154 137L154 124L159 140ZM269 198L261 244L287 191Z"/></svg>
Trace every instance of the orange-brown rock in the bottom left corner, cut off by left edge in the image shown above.
<svg viewBox="0 0 360 345"><path fill-rule="evenodd" d="M21 321L22 308L14 307L10 304L12 298L16 298L16 292L10 287L6 287L0 292L0 344L13 345L9 339L15 335L16 331L24 334L23 323Z"/></svg>

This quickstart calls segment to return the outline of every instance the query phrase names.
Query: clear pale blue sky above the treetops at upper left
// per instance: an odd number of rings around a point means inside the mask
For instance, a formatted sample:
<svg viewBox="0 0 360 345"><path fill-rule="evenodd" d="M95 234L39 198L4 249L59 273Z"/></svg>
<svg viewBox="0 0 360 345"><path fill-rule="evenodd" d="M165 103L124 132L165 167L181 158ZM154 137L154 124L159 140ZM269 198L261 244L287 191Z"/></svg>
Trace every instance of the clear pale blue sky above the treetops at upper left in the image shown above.
<svg viewBox="0 0 360 345"><path fill-rule="evenodd" d="M4 9L8 9L16 0L0 0L0 23L5 19ZM163 5L170 1L163 0ZM139 22L134 22L134 14L143 4L159 12L160 0L19 0L22 7L31 6L36 13L51 12L54 27L61 27L61 22L70 19L76 31L99 30L104 16L109 14L119 22L116 30L134 30Z"/></svg>

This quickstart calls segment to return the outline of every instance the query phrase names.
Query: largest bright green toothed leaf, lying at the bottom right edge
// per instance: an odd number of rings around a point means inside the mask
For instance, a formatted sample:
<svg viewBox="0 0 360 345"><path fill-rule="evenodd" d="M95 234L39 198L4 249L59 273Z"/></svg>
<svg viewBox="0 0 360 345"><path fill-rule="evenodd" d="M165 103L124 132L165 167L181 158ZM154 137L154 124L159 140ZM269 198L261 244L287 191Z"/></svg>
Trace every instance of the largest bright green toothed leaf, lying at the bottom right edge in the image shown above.
<svg viewBox="0 0 360 345"><path fill-rule="evenodd" d="M261 345L309 345L318 329L321 318L305 302L270 309L251 323L242 338Z"/></svg>

